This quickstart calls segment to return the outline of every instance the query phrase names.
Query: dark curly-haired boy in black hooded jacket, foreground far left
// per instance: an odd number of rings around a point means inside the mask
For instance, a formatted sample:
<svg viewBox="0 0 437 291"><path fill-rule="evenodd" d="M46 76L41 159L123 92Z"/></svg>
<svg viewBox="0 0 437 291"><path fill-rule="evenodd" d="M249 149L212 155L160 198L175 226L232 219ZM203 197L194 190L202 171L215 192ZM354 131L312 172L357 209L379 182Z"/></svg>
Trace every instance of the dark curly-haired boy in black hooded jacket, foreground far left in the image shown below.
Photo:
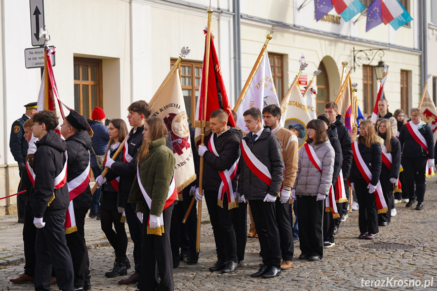
<svg viewBox="0 0 437 291"><path fill-rule="evenodd" d="M38 112L32 119L33 136L39 138L33 159L33 224L38 228L34 286L35 290L50 290L53 264L59 289L73 290L73 264L64 228L70 201L64 172L67 143L53 131L58 126L58 117L53 111Z"/></svg>

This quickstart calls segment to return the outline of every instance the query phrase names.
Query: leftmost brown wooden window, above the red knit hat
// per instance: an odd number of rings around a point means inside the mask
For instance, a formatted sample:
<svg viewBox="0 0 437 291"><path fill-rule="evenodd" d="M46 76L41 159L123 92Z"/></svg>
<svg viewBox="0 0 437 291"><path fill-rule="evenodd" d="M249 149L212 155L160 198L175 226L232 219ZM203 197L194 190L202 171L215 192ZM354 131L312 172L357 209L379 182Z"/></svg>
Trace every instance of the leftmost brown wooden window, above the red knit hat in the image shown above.
<svg viewBox="0 0 437 291"><path fill-rule="evenodd" d="M74 110L91 118L94 107L103 107L102 60L74 58Z"/></svg>

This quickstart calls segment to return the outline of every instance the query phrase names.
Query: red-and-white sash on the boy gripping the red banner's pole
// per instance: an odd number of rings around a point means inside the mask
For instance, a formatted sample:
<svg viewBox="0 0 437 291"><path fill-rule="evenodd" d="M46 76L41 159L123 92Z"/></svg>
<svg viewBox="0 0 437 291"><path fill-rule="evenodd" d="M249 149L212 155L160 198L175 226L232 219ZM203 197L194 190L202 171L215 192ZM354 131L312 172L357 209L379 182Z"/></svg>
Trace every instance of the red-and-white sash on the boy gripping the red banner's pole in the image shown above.
<svg viewBox="0 0 437 291"><path fill-rule="evenodd" d="M217 153L214 144L214 134L212 134L209 139L208 148L214 153L214 155L219 157L219 154ZM220 187L219 187L217 204L221 208L223 208L223 197L225 192L227 193L228 209L238 207L238 198L235 197L235 193L233 192L232 180L235 177L239 160L240 160L240 156L237 157L237 159L232 164L229 170L218 171L222 182L220 183Z"/></svg>

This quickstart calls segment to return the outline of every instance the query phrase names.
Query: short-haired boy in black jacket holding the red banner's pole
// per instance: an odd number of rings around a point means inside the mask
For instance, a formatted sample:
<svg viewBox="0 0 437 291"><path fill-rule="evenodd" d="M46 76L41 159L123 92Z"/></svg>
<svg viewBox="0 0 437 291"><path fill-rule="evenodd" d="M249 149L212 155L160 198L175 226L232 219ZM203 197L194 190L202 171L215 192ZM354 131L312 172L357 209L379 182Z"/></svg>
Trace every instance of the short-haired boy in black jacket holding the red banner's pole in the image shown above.
<svg viewBox="0 0 437 291"><path fill-rule="evenodd" d="M222 271L222 273L232 273L238 268L236 238L232 224L232 208L238 207L238 198L235 199L236 175L231 176L231 167L240 157L242 133L234 127L227 126L227 121L228 115L224 110L213 111L210 116L212 133L205 138L206 145L199 145L198 150L199 155L205 159L203 185L217 248L218 260L209 270ZM213 138L212 143L211 138ZM221 183L224 183L221 175L224 176L225 171L230 175L232 185L229 185L229 188L232 188L235 196L232 197L231 193L226 192L220 200L218 196L221 193L218 190ZM195 198L197 201L202 200L198 188Z"/></svg>

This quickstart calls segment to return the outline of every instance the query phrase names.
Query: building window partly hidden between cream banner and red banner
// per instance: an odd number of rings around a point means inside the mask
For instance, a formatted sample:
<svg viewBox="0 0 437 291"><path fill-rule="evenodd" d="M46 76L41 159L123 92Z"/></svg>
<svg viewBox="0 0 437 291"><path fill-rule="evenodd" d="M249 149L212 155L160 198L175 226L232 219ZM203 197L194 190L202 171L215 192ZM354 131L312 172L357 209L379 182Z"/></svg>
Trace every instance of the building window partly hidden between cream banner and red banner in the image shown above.
<svg viewBox="0 0 437 291"><path fill-rule="evenodd" d="M171 66L176 59L170 61ZM202 76L202 62L183 60L179 63L182 93L184 95L185 110L190 122L195 119L195 107Z"/></svg>

